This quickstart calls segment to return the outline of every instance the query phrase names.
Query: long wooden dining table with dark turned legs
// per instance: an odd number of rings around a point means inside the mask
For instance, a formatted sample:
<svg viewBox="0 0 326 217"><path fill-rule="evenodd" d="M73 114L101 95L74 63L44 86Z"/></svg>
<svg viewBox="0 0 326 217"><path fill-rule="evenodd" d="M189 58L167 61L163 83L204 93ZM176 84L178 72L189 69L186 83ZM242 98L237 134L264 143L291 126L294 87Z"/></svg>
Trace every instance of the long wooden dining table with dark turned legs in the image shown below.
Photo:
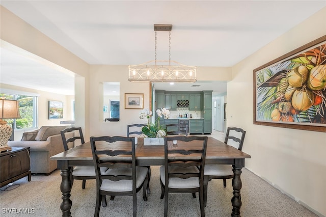
<svg viewBox="0 0 326 217"><path fill-rule="evenodd" d="M178 142L177 145L168 144L169 146L182 147L182 143ZM202 144L198 144L202 145ZM103 144L103 148L105 145ZM123 147L123 144L121 144ZM117 144L117 149L119 149ZM99 149L99 148L98 148ZM162 145L145 145L143 138L138 138L136 147L136 162L139 166L160 166L164 165L164 146ZM184 156L174 156L176 158L184 158ZM228 164L233 166L234 177L232 179L233 197L232 214L231 216L240 216L241 197L240 189L242 187L240 175L241 169L244 167L244 159L250 158L246 154L232 146L229 146L219 140L209 137L207 142L206 164ZM124 156L115 156L116 160L124 160ZM70 200L71 188L73 184L72 168L74 166L94 166L93 156L90 142L76 146L67 151L56 154L50 158L57 160L58 169L60 169L62 181L60 189L62 192L61 210L62 216L71 216L70 208L72 201Z"/></svg>

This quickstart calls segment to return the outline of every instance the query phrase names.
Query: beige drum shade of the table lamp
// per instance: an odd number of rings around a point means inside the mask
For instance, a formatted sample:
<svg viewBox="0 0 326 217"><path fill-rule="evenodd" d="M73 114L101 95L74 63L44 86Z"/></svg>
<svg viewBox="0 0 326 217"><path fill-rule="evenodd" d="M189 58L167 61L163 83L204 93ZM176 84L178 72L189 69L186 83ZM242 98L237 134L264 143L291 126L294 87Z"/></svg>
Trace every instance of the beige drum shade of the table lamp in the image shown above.
<svg viewBox="0 0 326 217"><path fill-rule="evenodd" d="M17 100L0 99L0 119L20 118Z"/></svg>

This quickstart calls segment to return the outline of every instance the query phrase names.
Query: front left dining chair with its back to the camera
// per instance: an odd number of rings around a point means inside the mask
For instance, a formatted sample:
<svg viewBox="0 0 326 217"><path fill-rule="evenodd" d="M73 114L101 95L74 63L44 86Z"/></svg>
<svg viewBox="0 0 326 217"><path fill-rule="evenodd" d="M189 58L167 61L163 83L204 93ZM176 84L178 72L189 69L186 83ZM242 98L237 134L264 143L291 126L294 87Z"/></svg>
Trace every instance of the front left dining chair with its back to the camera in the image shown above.
<svg viewBox="0 0 326 217"><path fill-rule="evenodd" d="M134 138L91 137L91 148L96 174L96 205L94 216L99 215L100 202L106 207L106 195L132 196L133 216L137 216L137 193L143 188L143 199L147 201L147 167L136 166ZM116 161L114 156L125 159ZM106 172L101 168L108 168Z"/></svg>

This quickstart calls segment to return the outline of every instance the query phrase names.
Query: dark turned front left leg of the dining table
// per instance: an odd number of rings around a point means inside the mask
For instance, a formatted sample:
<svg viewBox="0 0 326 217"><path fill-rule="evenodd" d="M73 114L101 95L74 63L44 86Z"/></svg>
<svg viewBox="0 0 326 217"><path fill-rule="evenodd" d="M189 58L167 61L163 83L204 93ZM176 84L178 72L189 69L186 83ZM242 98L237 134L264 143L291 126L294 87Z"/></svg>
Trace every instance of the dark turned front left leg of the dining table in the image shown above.
<svg viewBox="0 0 326 217"><path fill-rule="evenodd" d="M60 170L62 181L60 185L60 189L62 192L62 203L60 205L62 216L71 216L70 208L72 205L72 201L70 200L70 192L73 184L72 179L72 167L68 167L68 169Z"/></svg>

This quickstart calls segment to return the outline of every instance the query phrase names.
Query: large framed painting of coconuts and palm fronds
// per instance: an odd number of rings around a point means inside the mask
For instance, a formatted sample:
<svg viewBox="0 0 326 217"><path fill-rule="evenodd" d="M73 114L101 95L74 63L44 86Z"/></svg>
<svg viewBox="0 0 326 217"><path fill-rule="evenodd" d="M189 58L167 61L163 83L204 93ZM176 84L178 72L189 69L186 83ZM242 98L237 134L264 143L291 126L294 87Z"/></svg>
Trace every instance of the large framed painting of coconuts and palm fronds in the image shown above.
<svg viewBox="0 0 326 217"><path fill-rule="evenodd" d="M326 35L254 69L254 124L326 132Z"/></svg>

